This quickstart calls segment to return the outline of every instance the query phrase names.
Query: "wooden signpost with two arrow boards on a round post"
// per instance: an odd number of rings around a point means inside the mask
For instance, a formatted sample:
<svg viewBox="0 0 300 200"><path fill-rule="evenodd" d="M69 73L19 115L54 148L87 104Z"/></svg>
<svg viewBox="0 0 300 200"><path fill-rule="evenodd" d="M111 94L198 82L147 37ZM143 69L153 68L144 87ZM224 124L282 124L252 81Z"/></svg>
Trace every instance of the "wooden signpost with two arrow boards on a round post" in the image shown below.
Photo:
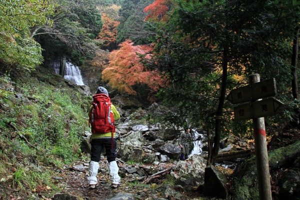
<svg viewBox="0 0 300 200"><path fill-rule="evenodd" d="M272 200L264 116L276 114L283 105L278 99L270 97L276 94L276 81L274 78L260 82L259 74L251 74L249 75L249 85L233 89L227 96L228 101L232 104L247 102L233 108L235 120L253 120L260 200Z"/></svg>

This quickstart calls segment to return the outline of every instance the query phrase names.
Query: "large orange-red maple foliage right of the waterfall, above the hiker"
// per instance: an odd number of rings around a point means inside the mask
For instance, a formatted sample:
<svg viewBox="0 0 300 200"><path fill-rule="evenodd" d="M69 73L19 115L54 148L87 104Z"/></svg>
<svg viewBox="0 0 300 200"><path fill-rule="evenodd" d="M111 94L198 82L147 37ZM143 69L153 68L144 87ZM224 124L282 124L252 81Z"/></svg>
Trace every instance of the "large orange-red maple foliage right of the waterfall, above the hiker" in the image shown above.
<svg viewBox="0 0 300 200"><path fill-rule="evenodd" d="M152 47L146 45L133 45L126 40L119 44L118 50L113 50L109 56L109 63L104 66L102 79L108 81L112 88L136 94L132 88L135 84L146 84L152 91L157 91L166 85L166 78L157 70L148 70L141 63L151 58ZM141 55L141 56L140 56Z"/></svg>

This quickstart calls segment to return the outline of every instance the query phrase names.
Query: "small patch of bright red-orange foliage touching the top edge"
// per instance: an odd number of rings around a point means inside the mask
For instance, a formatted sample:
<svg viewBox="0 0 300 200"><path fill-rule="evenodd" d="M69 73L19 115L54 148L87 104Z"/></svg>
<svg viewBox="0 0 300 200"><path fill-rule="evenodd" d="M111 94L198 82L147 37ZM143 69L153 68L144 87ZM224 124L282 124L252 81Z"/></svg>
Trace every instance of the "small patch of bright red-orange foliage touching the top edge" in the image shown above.
<svg viewBox="0 0 300 200"><path fill-rule="evenodd" d="M143 11L148 13L144 20L153 19L161 20L165 13L169 10L167 0L155 0L152 4L146 6Z"/></svg>

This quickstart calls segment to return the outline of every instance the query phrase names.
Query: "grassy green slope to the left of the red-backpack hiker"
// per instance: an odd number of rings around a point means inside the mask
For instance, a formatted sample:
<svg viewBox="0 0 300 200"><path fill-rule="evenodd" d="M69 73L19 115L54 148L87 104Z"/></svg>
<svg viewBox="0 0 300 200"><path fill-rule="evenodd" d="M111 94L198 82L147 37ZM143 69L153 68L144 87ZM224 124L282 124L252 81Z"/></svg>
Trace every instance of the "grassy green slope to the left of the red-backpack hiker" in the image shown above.
<svg viewBox="0 0 300 200"><path fill-rule="evenodd" d="M49 80L60 86L55 88ZM18 191L59 190L51 183L52 172L40 171L34 163L60 168L81 156L81 135L89 129L87 110L82 107L89 107L90 97L61 80L41 68L14 81L0 77L0 89L6 93L0 99L0 181L10 181ZM19 97L12 88L18 88Z"/></svg>

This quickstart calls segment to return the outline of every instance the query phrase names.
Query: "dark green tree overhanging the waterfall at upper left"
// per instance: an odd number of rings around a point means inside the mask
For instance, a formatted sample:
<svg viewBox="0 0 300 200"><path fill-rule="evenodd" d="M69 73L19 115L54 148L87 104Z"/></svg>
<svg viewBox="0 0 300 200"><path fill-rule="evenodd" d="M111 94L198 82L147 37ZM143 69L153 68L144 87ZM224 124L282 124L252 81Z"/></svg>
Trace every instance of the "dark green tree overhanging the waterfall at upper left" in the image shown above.
<svg viewBox="0 0 300 200"><path fill-rule="evenodd" d="M98 0L55 0L52 24L35 27L32 35L45 51L46 64L60 57L72 58L76 64L95 56L94 38L102 27ZM77 56L78 55L78 56Z"/></svg>

